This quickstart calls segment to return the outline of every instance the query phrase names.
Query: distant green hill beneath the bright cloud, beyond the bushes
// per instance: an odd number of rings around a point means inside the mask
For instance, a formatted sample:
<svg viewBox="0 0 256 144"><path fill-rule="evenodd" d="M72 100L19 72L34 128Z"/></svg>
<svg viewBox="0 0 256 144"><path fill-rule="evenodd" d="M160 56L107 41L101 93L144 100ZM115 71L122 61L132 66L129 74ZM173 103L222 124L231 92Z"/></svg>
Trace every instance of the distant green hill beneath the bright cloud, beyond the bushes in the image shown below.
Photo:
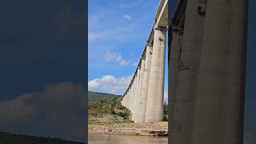
<svg viewBox="0 0 256 144"><path fill-rule="evenodd" d="M89 91L88 92L88 101L89 102L100 102L104 98L113 99L113 98L120 98L121 95L115 95L115 94L106 94L106 93L98 93Z"/></svg>

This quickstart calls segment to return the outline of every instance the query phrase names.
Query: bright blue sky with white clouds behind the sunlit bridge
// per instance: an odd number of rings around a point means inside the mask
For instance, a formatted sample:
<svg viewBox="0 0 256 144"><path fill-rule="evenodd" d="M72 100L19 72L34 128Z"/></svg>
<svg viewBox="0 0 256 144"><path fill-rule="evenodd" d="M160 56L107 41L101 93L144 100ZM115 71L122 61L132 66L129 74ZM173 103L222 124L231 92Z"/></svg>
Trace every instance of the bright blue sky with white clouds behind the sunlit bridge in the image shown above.
<svg viewBox="0 0 256 144"><path fill-rule="evenodd" d="M158 2L89 0L89 90L123 94L154 24Z"/></svg>

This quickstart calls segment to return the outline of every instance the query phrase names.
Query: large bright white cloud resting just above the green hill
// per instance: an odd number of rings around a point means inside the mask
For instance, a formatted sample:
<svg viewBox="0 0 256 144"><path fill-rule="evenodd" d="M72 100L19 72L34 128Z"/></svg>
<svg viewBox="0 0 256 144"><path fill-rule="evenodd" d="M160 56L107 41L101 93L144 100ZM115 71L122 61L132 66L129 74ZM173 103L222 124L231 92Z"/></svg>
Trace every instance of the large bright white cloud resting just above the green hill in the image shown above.
<svg viewBox="0 0 256 144"><path fill-rule="evenodd" d="M115 78L113 75L104 75L88 82L88 89L110 94L123 94L130 84L132 76Z"/></svg>

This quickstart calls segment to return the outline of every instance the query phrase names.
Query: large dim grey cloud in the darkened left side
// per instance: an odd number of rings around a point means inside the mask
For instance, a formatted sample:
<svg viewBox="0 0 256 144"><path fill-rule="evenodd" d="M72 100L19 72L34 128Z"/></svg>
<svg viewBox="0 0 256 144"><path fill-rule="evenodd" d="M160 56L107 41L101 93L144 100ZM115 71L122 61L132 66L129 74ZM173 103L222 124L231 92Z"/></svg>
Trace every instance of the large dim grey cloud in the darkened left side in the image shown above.
<svg viewBox="0 0 256 144"><path fill-rule="evenodd" d="M42 92L19 95L0 102L0 131L84 140L85 97L82 85L61 82Z"/></svg>

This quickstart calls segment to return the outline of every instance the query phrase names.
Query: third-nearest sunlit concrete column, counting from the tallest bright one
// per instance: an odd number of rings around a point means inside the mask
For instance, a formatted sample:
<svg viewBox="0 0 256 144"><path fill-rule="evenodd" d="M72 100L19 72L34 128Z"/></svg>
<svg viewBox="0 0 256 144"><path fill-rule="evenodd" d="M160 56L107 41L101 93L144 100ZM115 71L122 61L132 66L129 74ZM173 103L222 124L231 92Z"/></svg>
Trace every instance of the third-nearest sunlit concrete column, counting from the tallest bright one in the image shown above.
<svg viewBox="0 0 256 144"><path fill-rule="evenodd" d="M138 80L138 94L136 95L136 100L134 102L134 122L138 122L138 103L142 95L142 79L144 77L144 68L145 68L145 58L141 60L141 69L139 71L139 80Z"/></svg>

